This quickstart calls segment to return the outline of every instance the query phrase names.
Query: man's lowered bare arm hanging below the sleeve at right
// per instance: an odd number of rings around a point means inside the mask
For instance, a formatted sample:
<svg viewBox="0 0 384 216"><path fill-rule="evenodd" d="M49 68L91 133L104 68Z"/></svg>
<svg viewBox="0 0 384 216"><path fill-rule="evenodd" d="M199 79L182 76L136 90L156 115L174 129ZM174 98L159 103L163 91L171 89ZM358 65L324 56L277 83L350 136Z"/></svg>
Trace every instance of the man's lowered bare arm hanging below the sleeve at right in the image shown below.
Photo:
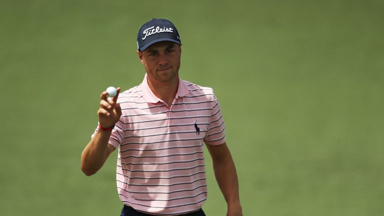
<svg viewBox="0 0 384 216"><path fill-rule="evenodd" d="M241 216L236 169L226 143L206 147L212 157L214 175L228 205L227 216Z"/></svg>

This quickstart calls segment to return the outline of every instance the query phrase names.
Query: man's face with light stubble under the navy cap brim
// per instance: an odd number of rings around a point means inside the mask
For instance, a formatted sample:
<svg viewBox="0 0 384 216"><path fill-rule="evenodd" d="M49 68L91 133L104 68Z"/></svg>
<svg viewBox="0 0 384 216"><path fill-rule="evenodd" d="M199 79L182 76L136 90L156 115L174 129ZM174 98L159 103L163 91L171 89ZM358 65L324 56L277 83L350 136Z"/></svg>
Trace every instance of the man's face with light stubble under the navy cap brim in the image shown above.
<svg viewBox="0 0 384 216"><path fill-rule="evenodd" d="M151 81L167 83L175 78L178 79L181 45L171 41L161 41L137 53Z"/></svg>

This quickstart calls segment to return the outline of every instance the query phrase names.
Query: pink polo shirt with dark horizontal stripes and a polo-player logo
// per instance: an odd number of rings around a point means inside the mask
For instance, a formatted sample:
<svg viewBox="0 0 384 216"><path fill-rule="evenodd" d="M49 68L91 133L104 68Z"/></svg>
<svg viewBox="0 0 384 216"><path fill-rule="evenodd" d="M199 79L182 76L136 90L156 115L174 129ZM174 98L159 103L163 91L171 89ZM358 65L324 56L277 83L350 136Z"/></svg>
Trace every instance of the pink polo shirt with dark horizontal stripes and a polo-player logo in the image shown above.
<svg viewBox="0 0 384 216"><path fill-rule="evenodd" d="M179 80L170 106L150 90L146 74L119 94L122 115L109 144L119 146L116 182L121 201L138 211L177 215L207 197L203 143L225 141L212 88Z"/></svg>

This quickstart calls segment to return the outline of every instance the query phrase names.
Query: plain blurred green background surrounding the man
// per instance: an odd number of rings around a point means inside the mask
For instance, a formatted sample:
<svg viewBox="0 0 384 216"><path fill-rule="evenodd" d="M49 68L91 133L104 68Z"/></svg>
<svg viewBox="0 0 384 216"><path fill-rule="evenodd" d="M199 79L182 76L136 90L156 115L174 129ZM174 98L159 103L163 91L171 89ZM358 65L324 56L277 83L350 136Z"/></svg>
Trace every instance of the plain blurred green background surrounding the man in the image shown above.
<svg viewBox="0 0 384 216"><path fill-rule="evenodd" d="M215 89L244 215L384 215L382 0L0 0L1 215L119 215L116 151L91 177L80 154L100 92L141 82L153 17Z"/></svg>

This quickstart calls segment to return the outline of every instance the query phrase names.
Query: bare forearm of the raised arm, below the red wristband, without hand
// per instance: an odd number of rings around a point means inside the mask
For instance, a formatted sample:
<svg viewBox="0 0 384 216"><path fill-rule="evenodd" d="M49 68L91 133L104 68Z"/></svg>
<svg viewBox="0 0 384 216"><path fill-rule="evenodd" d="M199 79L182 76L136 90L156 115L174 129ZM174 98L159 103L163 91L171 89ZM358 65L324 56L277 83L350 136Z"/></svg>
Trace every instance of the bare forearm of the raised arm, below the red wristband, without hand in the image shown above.
<svg viewBox="0 0 384 216"><path fill-rule="evenodd" d="M111 131L99 130L81 153L81 170L86 175L96 173L107 157L107 146Z"/></svg>

